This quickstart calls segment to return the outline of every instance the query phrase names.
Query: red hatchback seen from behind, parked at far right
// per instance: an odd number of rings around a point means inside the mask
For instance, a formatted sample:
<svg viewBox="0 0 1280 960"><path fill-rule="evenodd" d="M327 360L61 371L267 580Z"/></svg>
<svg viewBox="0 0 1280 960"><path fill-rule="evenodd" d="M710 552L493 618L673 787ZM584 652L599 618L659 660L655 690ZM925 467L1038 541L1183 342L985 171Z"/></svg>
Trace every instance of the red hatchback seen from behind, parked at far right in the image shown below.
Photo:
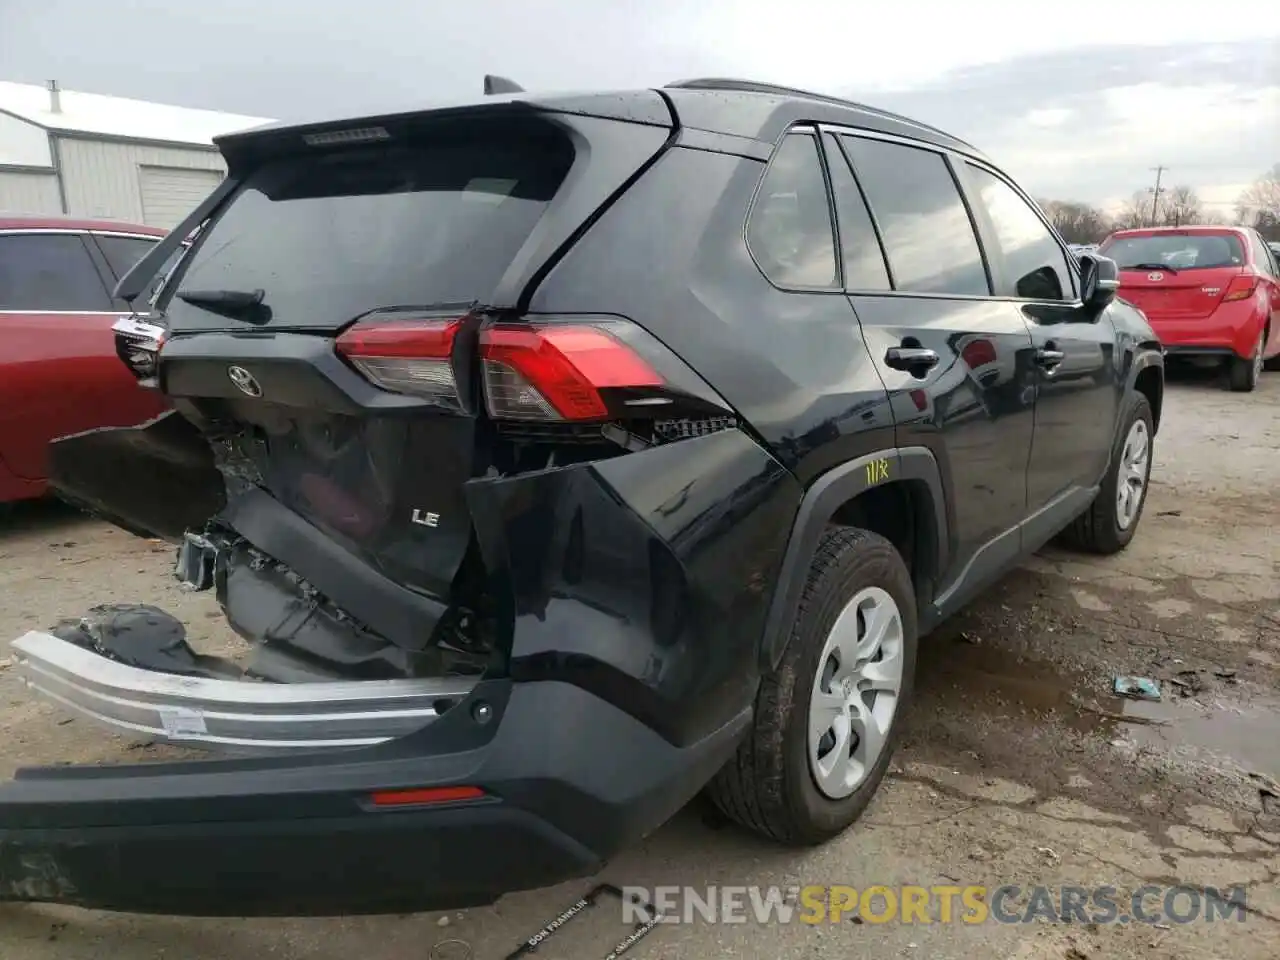
<svg viewBox="0 0 1280 960"><path fill-rule="evenodd" d="M1170 357L1222 364L1233 390L1280 367L1280 266L1257 230L1117 230L1098 252L1120 266L1120 296L1147 315Z"/></svg>

